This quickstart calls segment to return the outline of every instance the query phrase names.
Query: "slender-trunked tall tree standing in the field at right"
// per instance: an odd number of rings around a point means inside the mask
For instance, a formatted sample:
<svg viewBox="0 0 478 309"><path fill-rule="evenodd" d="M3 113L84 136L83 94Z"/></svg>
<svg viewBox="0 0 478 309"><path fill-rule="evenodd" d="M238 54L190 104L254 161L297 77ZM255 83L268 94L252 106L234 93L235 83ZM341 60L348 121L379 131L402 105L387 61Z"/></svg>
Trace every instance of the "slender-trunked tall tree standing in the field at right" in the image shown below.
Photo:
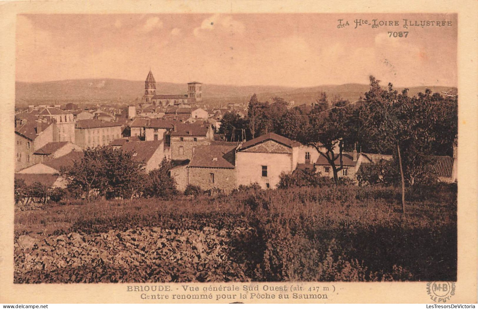
<svg viewBox="0 0 478 309"><path fill-rule="evenodd" d="M410 97L408 89L402 93L380 87L380 81L370 76L370 90L365 94L368 108L367 128L371 140L381 140L390 149L395 149L402 187L402 212L405 214L405 179L411 185L416 178L430 174L427 154L431 141L436 139L434 123L437 120L431 91L424 96ZM439 138L439 137L438 137Z"/></svg>

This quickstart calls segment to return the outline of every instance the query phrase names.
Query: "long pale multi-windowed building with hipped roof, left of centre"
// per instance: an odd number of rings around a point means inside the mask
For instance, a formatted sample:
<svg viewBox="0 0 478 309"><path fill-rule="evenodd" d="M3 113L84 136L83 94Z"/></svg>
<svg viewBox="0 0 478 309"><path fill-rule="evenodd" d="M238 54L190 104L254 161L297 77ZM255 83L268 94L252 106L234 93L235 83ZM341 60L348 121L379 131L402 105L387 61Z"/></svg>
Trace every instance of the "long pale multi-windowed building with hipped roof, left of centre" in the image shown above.
<svg viewBox="0 0 478 309"><path fill-rule="evenodd" d="M106 146L121 137L121 124L98 119L78 120L75 124L76 145L83 148Z"/></svg>

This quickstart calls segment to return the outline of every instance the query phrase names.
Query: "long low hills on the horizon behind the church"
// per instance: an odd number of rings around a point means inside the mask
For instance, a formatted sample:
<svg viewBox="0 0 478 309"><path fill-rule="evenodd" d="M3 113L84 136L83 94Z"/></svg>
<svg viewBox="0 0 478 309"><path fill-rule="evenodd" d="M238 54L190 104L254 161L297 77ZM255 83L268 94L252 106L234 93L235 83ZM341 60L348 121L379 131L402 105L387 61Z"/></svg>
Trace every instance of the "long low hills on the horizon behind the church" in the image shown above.
<svg viewBox="0 0 478 309"><path fill-rule="evenodd" d="M79 79L63 80L44 83L16 82L15 94L17 105L25 105L34 101L90 101L109 100L118 102L133 102L140 100L144 92L143 81L130 81L122 79ZM411 87L410 94L416 95L424 92L426 86ZM452 91L456 88L443 86L429 86L433 92ZM187 84L156 83L159 94L185 94ZM402 90L402 88L397 88ZM312 103L325 91L329 97L340 96L350 101L357 100L369 90L369 85L321 85L315 87L293 88L284 86L234 86L234 85L209 85L203 86L204 103L222 105L227 103L248 102L254 93L260 101L270 100L280 96L295 104Z"/></svg>

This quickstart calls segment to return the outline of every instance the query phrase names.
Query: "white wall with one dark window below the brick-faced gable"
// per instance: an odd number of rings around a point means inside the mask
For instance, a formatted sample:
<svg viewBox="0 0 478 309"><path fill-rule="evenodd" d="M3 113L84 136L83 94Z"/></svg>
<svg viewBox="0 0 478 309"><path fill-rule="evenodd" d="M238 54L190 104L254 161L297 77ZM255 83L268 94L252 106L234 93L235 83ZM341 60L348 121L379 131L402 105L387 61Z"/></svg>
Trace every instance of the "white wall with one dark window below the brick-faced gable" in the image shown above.
<svg viewBox="0 0 478 309"><path fill-rule="evenodd" d="M262 165L267 166L267 177L262 177ZM237 185L258 182L263 189L269 183L274 189L282 172L292 172L292 153L236 152Z"/></svg>

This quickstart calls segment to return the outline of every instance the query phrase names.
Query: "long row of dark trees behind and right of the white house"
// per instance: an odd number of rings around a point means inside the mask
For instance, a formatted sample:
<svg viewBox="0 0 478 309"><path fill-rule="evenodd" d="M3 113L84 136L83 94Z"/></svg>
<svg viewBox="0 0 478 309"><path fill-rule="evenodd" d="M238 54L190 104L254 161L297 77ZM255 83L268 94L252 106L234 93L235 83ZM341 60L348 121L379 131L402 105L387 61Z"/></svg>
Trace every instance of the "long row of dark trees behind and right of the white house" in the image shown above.
<svg viewBox="0 0 478 309"><path fill-rule="evenodd" d="M409 96L393 85L380 86L370 76L370 89L356 102L329 99L321 93L311 106L287 108L282 98L272 103L250 98L247 117L224 116L221 133L239 140L274 132L315 147L330 164L334 181L343 169L343 152L359 146L365 152L393 154L402 185L414 185L429 176L430 155L452 155L457 136L457 97L432 94L429 89ZM336 164L336 161L339 163Z"/></svg>

